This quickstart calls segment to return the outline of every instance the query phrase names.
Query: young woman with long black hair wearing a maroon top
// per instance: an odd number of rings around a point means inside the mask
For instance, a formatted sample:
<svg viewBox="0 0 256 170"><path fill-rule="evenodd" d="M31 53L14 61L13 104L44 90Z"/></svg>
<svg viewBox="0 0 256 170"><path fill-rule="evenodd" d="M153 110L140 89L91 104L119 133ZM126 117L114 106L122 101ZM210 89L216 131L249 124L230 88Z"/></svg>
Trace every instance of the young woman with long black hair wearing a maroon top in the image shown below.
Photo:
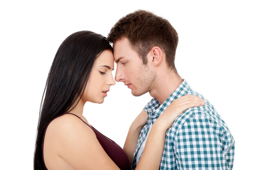
<svg viewBox="0 0 256 170"><path fill-rule="evenodd" d="M35 170L129 169L131 153L146 124L145 111L130 126L124 150L83 117L85 102L103 103L110 86L115 84L113 69L112 47L102 35L79 31L63 41L49 71L42 99ZM168 106L153 125L136 170L158 170L166 130L184 110L203 104L199 97L186 95Z"/></svg>

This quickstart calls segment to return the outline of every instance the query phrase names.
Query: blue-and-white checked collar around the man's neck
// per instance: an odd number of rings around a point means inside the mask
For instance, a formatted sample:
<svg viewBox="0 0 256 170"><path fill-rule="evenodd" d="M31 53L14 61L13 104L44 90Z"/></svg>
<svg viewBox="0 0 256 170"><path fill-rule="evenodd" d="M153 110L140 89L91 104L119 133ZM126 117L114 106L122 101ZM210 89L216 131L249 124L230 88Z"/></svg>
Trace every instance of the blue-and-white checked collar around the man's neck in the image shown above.
<svg viewBox="0 0 256 170"><path fill-rule="evenodd" d="M173 102L173 100L186 95L189 89L189 84L186 82L186 80L183 80L180 86L176 88L176 90L164 101L163 104L159 106L159 101L156 98L153 98L144 107L144 110L148 113L148 115L151 115L151 117L160 116L166 107Z"/></svg>

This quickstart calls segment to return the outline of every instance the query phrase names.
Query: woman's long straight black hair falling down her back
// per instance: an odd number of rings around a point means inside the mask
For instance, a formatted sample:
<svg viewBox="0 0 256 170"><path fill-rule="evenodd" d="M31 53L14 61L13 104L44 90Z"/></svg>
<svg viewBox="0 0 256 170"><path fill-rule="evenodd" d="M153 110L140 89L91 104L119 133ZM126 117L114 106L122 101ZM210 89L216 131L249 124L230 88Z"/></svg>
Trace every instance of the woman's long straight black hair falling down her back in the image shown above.
<svg viewBox="0 0 256 170"><path fill-rule="evenodd" d="M79 94L85 89L95 59L106 49L112 50L107 38L91 31L73 33L58 48L40 105L34 170L45 170L42 143L47 124L73 109L72 105L79 101Z"/></svg>

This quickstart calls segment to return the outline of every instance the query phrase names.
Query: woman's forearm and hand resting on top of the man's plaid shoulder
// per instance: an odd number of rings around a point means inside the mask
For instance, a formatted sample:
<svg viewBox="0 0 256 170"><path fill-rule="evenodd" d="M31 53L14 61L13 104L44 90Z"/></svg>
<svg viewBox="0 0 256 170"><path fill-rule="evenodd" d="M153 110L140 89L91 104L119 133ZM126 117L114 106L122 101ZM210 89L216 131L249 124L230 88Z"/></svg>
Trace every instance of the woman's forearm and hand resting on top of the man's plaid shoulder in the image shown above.
<svg viewBox="0 0 256 170"><path fill-rule="evenodd" d="M204 103L195 95L185 95L174 100L153 124L136 170L158 170L164 151L166 131L184 110Z"/></svg>

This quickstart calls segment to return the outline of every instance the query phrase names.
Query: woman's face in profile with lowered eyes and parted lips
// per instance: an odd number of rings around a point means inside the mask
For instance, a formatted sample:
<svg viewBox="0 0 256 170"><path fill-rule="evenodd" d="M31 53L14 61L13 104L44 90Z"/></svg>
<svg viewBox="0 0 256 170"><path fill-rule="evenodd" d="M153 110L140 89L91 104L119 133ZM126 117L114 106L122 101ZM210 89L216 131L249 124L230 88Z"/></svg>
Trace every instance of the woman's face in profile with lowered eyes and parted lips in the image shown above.
<svg viewBox="0 0 256 170"><path fill-rule="evenodd" d="M114 56L111 50L105 50L96 58L92 72L81 100L83 102L103 103L110 86L115 85L112 76Z"/></svg>

